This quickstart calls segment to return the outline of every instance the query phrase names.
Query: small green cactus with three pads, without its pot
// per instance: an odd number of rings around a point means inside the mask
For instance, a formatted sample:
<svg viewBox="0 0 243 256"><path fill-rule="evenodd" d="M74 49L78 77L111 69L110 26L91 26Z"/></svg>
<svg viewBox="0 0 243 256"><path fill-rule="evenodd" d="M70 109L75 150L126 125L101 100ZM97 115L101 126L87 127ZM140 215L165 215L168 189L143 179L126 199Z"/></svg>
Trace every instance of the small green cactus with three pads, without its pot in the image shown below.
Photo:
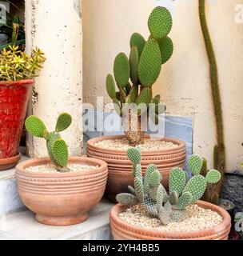
<svg viewBox="0 0 243 256"><path fill-rule="evenodd" d="M71 123L72 117L70 114L62 113L58 117L55 130L48 132L45 124L38 117L32 115L26 118L26 130L35 137L46 139L50 160L61 172L68 171L68 147L59 133L66 130Z"/></svg>

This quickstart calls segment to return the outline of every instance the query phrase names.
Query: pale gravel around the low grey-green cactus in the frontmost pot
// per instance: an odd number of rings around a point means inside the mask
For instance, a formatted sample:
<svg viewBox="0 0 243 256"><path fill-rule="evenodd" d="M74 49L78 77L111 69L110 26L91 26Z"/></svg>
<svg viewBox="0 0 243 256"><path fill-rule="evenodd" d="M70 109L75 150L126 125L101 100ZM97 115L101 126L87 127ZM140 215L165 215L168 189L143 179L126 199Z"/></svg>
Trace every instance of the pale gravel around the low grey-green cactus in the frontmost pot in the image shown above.
<svg viewBox="0 0 243 256"><path fill-rule="evenodd" d="M196 204L188 206L187 217L183 222L169 222L167 226L161 224L157 218L153 218L142 210L140 205L128 208L119 217L134 226L147 230L169 231L169 232L189 232L200 231L219 225L223 219L212 210L205 210Z"/></svg>

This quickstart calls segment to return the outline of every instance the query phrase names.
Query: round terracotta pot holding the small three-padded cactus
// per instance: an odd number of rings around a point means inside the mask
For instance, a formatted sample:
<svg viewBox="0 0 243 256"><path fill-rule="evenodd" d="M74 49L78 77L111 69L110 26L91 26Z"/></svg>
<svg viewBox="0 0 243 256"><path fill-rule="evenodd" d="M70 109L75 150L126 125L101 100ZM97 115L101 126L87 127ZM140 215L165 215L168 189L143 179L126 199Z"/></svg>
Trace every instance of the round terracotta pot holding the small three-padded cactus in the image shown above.
<svg viewBox="0 0 243 256"><path fill-rule="evenodd" d="M82 172L34 173L25 169L50 163L31 159L16 166L18 193L38 222L65 226L84 222L88 211L101 201L106 188L107 164L93 158L70 158L70 163L98 166Z"/></svg>

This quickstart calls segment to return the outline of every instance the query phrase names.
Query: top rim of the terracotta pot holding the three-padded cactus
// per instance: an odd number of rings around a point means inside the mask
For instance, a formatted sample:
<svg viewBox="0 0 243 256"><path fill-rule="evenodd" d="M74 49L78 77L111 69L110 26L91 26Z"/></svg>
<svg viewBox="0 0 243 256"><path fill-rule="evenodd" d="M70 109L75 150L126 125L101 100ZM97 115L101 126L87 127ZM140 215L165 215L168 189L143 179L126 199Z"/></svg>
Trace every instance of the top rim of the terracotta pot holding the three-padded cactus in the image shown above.
<svg viewBox="0 0 243 256"><path fill-rule="evenodd" d="M32 158L26 160L24 162L19 163L15 168L16 172L27 177L37 177L37 178L70 178L70 177L77 177L77 176L87 176L92 174L98 174L103 172L104 170L108 170L107 163L96 159L96 158L84 158L84 157L70 157L70 163L81 163L90 166L98 166L95 169L86 169L81 172L57 172L57 173L36 173L26 171L26 167L29 166L39 166L42 164L51 163L50 158Z"/></svg>

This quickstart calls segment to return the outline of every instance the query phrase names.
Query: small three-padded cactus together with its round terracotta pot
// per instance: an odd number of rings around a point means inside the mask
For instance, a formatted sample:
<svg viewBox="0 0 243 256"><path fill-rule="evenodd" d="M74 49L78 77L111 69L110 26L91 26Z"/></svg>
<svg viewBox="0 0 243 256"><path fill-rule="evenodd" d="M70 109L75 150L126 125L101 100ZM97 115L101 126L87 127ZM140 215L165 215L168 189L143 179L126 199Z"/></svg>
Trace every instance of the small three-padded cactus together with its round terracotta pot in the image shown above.
<svg viewBox="0 0 243 256"><path fill-rule="evenodd" d="M68 147L59 134L72 122L60 114L53 132L36 116L26 119L26 130L46 139L50 158L30 159L16 166L18 193L38 222L63 226L84 222L100 202L106 188L107 164L94 158L68 158Z"/></svg>

